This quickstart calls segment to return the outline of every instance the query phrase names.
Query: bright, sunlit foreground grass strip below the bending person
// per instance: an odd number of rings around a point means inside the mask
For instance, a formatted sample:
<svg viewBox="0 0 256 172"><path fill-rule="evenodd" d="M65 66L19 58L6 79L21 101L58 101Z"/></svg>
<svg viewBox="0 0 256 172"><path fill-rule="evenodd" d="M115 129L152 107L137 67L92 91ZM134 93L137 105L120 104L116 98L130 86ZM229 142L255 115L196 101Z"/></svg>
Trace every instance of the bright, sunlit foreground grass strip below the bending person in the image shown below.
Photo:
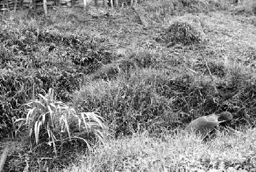
<svg viewBox="0 0 256 172"><path fill-rule="evenodd" d="M63 171L253 171L255 134L254 129L225 131L202 143L184 132L163 132L157 138L143 132L111 139Z"/></svg>

